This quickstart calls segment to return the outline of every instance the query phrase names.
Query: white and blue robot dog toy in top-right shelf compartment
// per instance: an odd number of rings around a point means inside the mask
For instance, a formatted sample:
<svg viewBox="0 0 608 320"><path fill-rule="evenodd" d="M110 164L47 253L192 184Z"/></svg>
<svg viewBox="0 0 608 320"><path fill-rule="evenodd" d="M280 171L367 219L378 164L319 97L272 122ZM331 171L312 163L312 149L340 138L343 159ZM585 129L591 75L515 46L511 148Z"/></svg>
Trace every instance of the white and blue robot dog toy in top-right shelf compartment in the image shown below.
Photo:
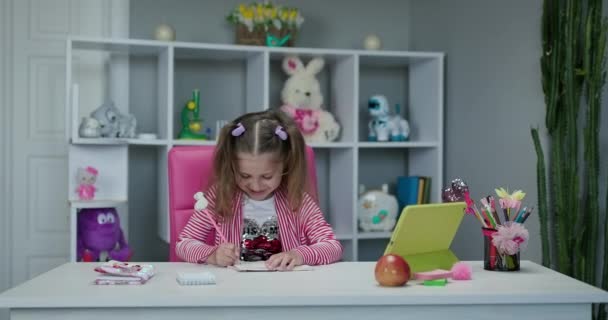
<svg viewBox="0 0 608 320"><path fill-rule="evenodd" d="M398 106L398 105L397 105ZM410 126L401 118L399 110L391 116L388 101L385 96L375 95L368 102L369 115L369 141L407 141L410 135Z"/></svg>

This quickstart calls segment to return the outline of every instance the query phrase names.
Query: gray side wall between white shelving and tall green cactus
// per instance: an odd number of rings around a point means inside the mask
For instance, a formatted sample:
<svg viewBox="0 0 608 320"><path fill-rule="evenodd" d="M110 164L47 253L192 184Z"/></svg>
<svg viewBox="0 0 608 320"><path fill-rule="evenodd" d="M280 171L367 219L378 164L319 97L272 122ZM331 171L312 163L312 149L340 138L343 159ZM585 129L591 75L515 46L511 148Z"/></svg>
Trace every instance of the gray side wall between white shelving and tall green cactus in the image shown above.
<svg viewBox="0 0 608 320"><path fill-rule="evenodd" d="M446 53L445 179L479 199L497 186L537 202L531 126L544 125L539 57L542 1L425 0L412 5L412 49ZM541 260L538 212L522 259ZM454 243L482 259L479 223L465 217Z"/></svg>

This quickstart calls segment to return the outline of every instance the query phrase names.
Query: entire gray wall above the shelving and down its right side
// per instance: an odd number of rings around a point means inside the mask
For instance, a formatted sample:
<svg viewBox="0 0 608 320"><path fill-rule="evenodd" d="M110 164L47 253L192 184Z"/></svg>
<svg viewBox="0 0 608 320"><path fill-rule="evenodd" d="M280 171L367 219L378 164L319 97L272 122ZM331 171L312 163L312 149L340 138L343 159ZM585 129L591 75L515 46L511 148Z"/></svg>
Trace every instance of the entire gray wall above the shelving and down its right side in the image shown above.
<svg viewBox="0 0 608 320"><path fill-rule="evenodd" d="M151 38L154 26L164 20L176 28L178 40L233 43L233 31L224 16L236 3L132 0L131 37ZM524 189L527 202L536 204L536 155L530 127L544 128L539 67L541 0L281 3L301 8L307 17L298 46L359 48L363 35L375 32L386 49L445 52L444 185L461 177L475 198L492 193L498 185ZM607 114L604 106L603 123ZM602 129L603 150L608 150L606 136ZM605 167L608 151L603 152ZM603 171L601 181L604 199ZM604 201L601 203L603 206ZM540 262L535 213L527 222L531 240L522 258ZM145 238L137 232L134 230L132 238ZM466 217L453 244L461 259L482 258L479 232L479 224Z"/></svg>

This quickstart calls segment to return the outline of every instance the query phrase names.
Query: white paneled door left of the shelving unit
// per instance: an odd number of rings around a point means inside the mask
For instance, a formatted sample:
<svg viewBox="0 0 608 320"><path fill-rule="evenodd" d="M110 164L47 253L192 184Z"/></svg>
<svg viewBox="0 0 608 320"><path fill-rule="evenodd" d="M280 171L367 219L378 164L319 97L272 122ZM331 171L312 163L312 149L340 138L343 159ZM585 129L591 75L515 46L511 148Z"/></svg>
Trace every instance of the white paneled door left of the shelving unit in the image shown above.
<svg viewBox="0 0 608 320"><path fill-rule="evenodd" d="M129 2L7 1L11 94L3 108L11 118L8 267L14 286L69 259L66 36L128 37Z"/></svg>

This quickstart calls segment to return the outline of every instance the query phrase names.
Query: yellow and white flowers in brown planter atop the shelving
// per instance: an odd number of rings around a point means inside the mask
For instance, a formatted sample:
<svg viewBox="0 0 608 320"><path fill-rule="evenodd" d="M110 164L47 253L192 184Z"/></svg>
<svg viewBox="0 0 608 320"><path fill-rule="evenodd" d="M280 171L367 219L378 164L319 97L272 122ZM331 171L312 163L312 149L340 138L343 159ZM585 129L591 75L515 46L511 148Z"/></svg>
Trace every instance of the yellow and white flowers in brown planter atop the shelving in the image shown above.
<svg viewBox="0 0 608 320"><path fill-rule="evenodd" d="M237 27L237 43L268 46L293 46L304 22L297 8L271 2L240 4L226 19Z"/></svg>

